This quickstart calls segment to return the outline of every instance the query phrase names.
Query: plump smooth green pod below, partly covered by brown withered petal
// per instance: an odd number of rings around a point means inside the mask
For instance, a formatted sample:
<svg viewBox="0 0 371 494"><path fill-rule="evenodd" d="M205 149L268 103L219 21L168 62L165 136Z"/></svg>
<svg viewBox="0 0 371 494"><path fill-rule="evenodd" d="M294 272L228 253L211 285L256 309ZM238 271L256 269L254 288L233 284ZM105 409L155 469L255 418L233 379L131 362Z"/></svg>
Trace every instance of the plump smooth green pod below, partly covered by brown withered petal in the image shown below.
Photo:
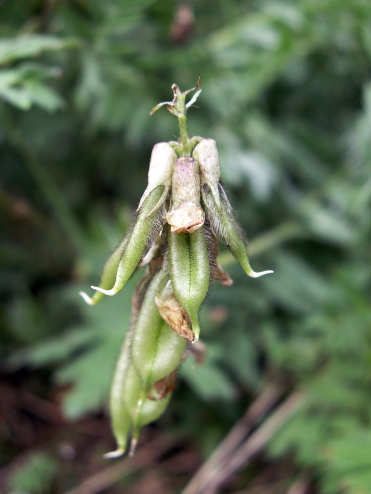
<svg viewBox="0 0 371 494"><path fill-rule="evenodd" d="M186 345L186 340L163 320L155 303L156 293L167 277L164 271L153 276L133 331L132 360L146 392L178 367Z"/></svg>

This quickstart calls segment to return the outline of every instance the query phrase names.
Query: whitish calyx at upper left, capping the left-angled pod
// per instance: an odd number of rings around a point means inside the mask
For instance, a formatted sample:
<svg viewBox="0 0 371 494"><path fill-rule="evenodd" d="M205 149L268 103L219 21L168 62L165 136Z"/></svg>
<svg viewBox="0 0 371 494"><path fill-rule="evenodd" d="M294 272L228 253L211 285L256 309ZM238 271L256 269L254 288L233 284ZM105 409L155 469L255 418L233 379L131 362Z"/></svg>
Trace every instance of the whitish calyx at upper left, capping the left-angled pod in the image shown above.
<svg viewBox="0 0 371 494"><path fill-rule="evenodd" d="M155 187L158 185L164 185L167 189L171 187L171 177L177 158L177 153L168 142L158 142L153 146L149 162L148 185L140 199L137 211Z"/></svg>

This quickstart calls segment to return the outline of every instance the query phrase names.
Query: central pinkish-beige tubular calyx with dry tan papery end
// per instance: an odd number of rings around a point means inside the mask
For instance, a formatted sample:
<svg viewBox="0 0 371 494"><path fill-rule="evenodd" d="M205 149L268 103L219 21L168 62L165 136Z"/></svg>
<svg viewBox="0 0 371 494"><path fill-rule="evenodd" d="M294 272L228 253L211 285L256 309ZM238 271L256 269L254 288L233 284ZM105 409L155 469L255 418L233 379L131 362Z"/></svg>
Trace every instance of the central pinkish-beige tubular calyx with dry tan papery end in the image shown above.
<svg viewBox="0 0 371 494"><path fill-rule="evenodd" d="M178 158L172 179L172 208L166 215L173 233L192 233L201 228L205 213L200 207L198 162L188 156Z"/></svg>

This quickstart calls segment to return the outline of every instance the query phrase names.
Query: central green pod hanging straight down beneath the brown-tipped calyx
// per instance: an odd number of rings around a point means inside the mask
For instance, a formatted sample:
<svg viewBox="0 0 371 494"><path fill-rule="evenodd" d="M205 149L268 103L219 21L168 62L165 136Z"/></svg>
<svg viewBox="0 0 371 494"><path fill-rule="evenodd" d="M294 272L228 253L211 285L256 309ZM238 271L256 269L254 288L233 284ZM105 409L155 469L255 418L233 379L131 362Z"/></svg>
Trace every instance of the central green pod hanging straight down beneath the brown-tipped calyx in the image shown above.
<svg viewBox="0 0 371 494"><path fill-rule="evenodd" d="M190 317L196 342L200 334L198 311L210 283L204 228L191 234L169 231L168 242L171 284L178 302Z"/></svg>

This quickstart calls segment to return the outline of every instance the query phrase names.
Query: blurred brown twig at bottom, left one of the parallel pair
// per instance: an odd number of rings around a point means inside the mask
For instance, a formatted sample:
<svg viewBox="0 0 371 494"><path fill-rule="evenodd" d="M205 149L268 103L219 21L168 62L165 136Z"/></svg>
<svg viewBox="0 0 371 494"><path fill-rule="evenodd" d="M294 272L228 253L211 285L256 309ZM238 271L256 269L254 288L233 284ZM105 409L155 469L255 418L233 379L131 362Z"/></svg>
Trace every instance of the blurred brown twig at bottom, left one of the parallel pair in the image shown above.
<svg viewBox="0 0 371 494"><path fill-rule="evenodd" d="M282 386L270 384L263 393L248 407L242 418L236 422L231 431L212 453L209 459L196 472L182 494L202 492L211 478L219 471L221 465L241 444L256 422L262 418L282 395Z"/></svg>

